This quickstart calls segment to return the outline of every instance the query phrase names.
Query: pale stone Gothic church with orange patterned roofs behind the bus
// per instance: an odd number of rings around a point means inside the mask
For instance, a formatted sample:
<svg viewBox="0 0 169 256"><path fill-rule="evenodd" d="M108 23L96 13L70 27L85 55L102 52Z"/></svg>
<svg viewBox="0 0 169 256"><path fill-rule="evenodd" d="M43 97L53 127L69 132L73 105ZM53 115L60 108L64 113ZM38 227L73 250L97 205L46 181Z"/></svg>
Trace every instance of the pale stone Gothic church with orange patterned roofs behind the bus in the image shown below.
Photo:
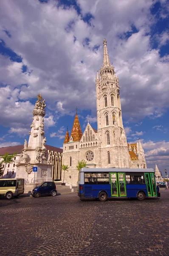
<svg viewBox="0 0 169 256"><path fill-rule="evenodd" d="M67 130L63 143L66 185L76 185L78 161L88 168L146 168L141 141L128 144L123 127L118 76L110 64L107 41L103 41L103 65L96 76L97 130L87 123L82 134L76 109L71 134ZM62 175L63 177L63 175Z"/></svg>

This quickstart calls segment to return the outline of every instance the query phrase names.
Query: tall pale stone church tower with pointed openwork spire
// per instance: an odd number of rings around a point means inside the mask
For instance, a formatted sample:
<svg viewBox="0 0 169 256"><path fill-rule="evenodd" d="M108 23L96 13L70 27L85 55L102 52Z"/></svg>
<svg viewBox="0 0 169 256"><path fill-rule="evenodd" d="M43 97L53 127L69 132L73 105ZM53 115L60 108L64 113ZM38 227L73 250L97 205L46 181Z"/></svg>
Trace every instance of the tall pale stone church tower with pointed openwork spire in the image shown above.
<svg viewBox="0 0 169 256"><path fill-rule="evenodd" d="M99 137L99 167L130 167L120 103L118 76L110 64L107 41L103 41L103 65L96 77L96 104Z"/></svg>

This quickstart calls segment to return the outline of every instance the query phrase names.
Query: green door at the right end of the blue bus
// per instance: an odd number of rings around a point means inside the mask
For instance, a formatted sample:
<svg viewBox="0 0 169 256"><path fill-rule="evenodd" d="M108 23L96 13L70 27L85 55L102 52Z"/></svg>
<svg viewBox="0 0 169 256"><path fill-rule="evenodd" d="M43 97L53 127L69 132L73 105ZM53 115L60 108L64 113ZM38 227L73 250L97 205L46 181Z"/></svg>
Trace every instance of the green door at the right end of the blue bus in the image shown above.
<svg viewBox="0 0 169 256"><path fill-rule="evenodd" d="M146 172L146 187L147 187L147 194L148 196L157 196L157 188L155 183L155 175L153 172Z"/></svg>

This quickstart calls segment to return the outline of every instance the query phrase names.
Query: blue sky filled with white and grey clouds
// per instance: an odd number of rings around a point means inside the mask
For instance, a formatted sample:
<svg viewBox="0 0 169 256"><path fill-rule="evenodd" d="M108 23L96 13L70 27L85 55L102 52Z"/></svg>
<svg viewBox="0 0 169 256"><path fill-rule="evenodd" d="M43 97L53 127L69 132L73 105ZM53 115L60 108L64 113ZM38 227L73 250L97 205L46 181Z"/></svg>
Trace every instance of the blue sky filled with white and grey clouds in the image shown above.
<svg viewBox="0 0 169 256"><path fill-rule="evenodd" d="M37 94L45 137L61 148L76 106L97 129L97 70L107 40L119 78L128 143L141 139L148 168L169 174L169 1L0 1L0 147L29 138Z"/></svg>

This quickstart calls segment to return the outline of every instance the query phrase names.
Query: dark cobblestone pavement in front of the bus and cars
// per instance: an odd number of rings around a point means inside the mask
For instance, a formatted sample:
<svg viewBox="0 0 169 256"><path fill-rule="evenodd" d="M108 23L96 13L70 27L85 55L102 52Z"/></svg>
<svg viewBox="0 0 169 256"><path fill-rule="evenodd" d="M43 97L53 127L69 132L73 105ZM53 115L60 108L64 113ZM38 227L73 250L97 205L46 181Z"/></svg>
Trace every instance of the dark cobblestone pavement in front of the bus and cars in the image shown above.
<svg viewBox="0 0 169 256"><path fill-rule="evenodd" d="M169 256L169 190L145 201L0 198L1 256Z"/></svg>

